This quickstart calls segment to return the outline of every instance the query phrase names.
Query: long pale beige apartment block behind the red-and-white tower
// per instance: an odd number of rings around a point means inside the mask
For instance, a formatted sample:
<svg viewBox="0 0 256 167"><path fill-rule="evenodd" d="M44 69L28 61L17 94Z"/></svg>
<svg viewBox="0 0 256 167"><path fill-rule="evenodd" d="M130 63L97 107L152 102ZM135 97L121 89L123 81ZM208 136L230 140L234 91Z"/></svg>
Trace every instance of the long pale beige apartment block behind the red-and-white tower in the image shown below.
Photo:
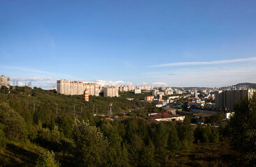
<svg viewBox="0 0 256 167"><path fill-rule="evenodd" d="M85 84L78 81L58 80L57 93L64 95L83 95L87 88L89 95L99 96L99 84Z"/></svg>

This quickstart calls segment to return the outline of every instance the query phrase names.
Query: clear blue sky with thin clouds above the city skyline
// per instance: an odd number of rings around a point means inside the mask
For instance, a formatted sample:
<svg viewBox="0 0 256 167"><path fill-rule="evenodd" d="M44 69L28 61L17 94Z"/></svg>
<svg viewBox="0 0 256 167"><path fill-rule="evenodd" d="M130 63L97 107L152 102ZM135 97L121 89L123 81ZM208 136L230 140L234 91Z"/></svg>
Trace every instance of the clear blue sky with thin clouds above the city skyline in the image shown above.
<svg viewBox="0 0 256 167"><path fill-rule="evenodd" d="M50 88L256 83L256 1L0 1L0 73ZM12 84L12 81L11 81Z"/></svg>

